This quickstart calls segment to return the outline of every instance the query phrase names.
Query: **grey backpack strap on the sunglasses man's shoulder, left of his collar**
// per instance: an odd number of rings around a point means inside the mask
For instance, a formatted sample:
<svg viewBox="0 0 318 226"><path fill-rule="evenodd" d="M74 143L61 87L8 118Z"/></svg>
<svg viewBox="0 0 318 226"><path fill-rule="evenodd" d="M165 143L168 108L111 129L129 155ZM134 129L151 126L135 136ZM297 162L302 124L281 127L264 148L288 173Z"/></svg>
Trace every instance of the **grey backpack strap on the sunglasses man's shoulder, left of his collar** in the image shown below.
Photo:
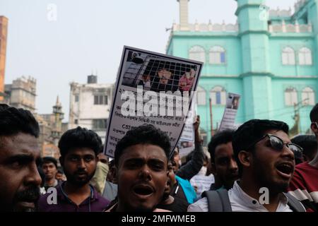
<svg viewBox="0 0 318 226"><path fill-rule="evenodd" d="M204 191L202 197L208 199L208 212L232 212L228 190Z"/></svg>

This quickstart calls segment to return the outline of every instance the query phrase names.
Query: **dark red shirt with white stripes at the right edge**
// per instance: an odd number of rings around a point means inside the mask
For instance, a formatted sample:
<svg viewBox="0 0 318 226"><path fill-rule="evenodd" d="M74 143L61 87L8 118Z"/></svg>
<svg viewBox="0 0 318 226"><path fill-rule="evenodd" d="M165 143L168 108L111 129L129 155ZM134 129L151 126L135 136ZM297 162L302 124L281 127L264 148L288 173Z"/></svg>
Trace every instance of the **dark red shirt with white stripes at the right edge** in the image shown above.
<svg viewBox="0 0 318 226"><path fill-rule="evenodd" d="M289 184L288 193L292 194L307 212L318 211L318 168L308 162L296 165L293 179Z"/></svg>

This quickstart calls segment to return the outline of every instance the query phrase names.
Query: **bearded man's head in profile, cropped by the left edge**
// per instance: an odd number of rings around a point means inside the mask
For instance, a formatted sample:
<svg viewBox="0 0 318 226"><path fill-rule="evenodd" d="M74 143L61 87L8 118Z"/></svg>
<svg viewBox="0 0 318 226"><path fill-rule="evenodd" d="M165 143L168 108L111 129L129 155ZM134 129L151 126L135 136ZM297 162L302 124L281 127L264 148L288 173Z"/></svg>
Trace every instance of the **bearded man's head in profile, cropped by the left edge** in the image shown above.
<svg viewBox="0 0 318 226"><path fill-rule="evenodd" d="M31 112L0 105L0 211L36 210L41 184L39 131Z"/></svg>

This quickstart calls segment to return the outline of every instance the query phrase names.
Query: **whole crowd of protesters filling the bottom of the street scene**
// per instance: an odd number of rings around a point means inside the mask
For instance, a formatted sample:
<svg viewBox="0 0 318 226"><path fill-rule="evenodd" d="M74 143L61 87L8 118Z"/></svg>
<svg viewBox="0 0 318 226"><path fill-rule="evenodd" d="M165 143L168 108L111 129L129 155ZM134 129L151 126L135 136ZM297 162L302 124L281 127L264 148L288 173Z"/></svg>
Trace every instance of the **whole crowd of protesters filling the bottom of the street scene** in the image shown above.
<svg viewBox="0 0 318 226"><path fill-rule="evenodd" d="M287 124L267 119L220 131L208 158L197 117L184 164L150 124L128 131L114 159L97 133L78 126L61 136L57 160L40 156L33 114L1 104L0 211L317 212L318 104L309 118L315 136L290 138Z"/></svg>

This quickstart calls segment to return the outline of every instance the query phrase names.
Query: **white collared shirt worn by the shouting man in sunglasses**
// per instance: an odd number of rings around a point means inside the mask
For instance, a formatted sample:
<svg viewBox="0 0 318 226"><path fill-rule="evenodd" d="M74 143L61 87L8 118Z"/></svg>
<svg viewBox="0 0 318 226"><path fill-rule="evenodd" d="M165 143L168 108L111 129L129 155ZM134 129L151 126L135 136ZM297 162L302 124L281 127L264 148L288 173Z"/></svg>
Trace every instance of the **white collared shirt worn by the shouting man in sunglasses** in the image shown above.
<svg viewBox="0 0 318 226"><path fill-rule="evenodd" d="M246 194L237 182L228 191L232 212L269 212L257 199ZM288 198L282 194L276 212L293 212L288 206ZM208 199L201 198L188 207L188 212L208 212Z"/></svg>

